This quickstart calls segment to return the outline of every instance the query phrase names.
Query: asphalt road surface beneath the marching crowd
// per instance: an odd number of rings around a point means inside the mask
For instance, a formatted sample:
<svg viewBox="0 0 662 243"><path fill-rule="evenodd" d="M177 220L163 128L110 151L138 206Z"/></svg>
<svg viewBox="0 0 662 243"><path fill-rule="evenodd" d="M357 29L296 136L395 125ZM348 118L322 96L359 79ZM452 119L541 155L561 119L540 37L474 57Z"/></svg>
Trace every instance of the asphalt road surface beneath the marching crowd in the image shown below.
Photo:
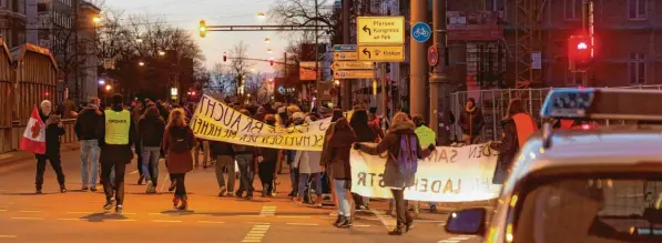
<svg viewBox="0 0 662 243"><path fill-rule="evenodd" d="M34 194L35 162L0 168L0 242L52 243L473 243L478 237L444 232L442 213L421 213L416 227L404 236L387 235L395 220L384 215L385 201L373 202L371 211L357 213L348 230L332 225L332 206L297 205L287 199L288 175L275 198L258 195L252 201L218 198L213 169L196 169L186 175L190 210L172 209L172 193L160 189L145 194L136 185L135 161L128 166L124 213L104 212L100 191L80 191L79 152L62 154L69 192L60 193L52 169L47 166L44 194ZM161 170L162 185L165 166ZM258 180L255 186L259 189ZM238 185L238 184L237 184ZM161 188L161 186L160 186ZM426 206L427 207L427 206Z"/></svg>

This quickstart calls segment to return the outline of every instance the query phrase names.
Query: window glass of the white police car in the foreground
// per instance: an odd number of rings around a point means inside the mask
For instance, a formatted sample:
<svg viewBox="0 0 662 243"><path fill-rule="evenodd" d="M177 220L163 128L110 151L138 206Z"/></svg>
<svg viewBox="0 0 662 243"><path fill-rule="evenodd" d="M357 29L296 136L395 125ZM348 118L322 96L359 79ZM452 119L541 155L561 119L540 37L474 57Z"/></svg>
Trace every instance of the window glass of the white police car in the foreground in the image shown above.
<svg viewBox="0 0 662 243"><path fill-rule="evenodd" d="M662 180L662 179L660 179ZM516 242L662 242L662 181L561 179L519 205Z"/></svg>

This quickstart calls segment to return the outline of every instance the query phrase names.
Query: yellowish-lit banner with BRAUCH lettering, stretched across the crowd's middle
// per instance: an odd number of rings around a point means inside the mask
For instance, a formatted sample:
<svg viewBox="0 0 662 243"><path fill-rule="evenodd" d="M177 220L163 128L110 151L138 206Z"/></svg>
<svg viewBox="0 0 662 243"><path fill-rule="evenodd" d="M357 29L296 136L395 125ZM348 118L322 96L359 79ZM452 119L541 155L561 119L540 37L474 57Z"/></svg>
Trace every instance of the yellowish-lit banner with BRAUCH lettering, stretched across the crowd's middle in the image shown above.
<svg viewBox="0 0 662 243"><path fill-rule="evenodd" d="M221 101L203 95L191 119L196 138L234 144L322 151L330 119L304 123L288 129L274 128L242 114Z"/></svg>

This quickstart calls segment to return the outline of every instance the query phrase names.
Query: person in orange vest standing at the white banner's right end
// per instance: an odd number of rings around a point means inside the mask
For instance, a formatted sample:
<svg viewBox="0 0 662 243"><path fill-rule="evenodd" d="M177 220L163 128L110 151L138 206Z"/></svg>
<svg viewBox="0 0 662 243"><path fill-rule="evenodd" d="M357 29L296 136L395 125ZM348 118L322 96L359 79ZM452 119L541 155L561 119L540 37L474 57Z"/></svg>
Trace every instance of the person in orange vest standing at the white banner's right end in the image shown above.
<svg viewBox="0 0 662 243"><path fill-rule="evenodd" d="M522 148L524 142L538 131L538 124L533 117L524 112L521 100L512 100L508 105L508 114L501 121L503 139L501 143L492 143L492 149L499 151L497 168L492 176L493 184L503 184L510 173L515 155Z"/></svg>

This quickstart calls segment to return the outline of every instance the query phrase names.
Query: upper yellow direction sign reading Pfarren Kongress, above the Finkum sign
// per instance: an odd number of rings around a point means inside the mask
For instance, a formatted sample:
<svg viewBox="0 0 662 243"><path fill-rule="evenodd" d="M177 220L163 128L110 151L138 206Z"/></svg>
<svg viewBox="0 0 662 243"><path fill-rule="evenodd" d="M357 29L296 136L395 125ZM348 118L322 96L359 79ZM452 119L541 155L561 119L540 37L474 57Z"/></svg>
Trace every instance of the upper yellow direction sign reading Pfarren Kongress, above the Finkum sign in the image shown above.
<svg viewBox="0 0 662 243"><path fill-rule="evenodd" d="M404 44L405 17L358 17L359 44Z"/></svg>

